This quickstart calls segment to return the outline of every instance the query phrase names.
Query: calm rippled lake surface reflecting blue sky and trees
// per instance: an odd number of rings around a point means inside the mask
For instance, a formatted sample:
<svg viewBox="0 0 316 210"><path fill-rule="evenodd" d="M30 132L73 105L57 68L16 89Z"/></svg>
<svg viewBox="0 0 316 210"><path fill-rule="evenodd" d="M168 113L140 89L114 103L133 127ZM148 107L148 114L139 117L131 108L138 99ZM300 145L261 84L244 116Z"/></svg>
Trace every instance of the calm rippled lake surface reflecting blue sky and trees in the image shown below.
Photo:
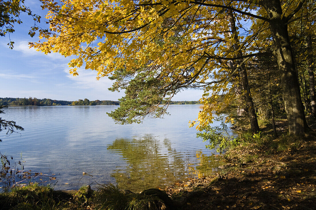
<svg viewBox="0 0 316 210"><path fill-rule="evenodd" d="M25 169L58 174L56 189L75 189L92 182L119 182L139 190L210 175L214 161L196 130L188 127L199 105L172 105L164 119L119 125L106 112L115 106L10 107L2 115L25 131L1 132L0 151L22 158ZM84 176L82 172L93 177ZM65 185L65 183L70 183ZM135 188L138 186L139 188Z"/></svg>

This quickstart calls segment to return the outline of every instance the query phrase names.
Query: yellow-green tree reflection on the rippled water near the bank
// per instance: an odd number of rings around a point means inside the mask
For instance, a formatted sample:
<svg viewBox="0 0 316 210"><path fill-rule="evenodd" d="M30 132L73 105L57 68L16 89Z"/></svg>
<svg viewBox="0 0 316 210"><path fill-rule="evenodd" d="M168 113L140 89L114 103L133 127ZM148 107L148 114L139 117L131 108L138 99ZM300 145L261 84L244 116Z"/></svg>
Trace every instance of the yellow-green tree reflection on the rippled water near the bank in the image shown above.
<svg viewBox="0 0 316 210"><path fill-rule="evenodd" d="M190 159L188 154L172 149L167 139L163 143L152 136L116 139L107 149L123 155L128 164L126 168L119 167L112 173L119 187L135 192L173 184L192 175L207 175L204 171L210 170L209 160L202 152L198 159ZM204 167L206 162L207 166Z"/></svg>

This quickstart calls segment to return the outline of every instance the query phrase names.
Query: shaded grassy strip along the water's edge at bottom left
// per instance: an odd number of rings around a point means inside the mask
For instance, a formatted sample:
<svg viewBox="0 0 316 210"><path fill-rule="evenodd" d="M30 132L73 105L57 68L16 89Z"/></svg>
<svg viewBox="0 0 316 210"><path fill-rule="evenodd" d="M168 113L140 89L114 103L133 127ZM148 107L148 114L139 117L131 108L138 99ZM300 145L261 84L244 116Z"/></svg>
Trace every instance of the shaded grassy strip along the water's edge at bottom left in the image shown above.
<svg viewBox="0 0 316 210"><path fill-rule="evenodd" d="M83 186L73 195L38 184L13 187L10 192L0 193L3 210L83 210L90 207L95 210L155 210L164 202L169 202L166 205L173 202L164 191L149 189L132 193L113 184L99 185L96 191Z"/></svg>

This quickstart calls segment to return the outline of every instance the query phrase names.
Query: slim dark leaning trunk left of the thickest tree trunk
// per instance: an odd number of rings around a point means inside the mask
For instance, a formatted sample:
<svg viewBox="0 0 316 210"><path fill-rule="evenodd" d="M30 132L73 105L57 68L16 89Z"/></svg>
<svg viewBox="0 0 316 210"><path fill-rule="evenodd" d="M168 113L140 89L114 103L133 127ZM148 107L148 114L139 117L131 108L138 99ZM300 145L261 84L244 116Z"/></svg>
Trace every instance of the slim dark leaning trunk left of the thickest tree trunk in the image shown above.
<svg viewBox="0 0 316 210"><path fill-rule="evenodd" d="M235 18L234 18L233 12L231 10L228 10L228 17L229 17L229 21L230 21L232 36L234 37L235 43L236 43L236 44L234 44L234 48L235 48L235 50L239 50L239 44L238 44L239 38L238 38L237 30L236 30ZM242 56L241 52L239 52L238 55ZM242 62L242 60L240 60L238 63L241 63L241 62ZM238 65L238 63L237 63L237 65ZM244 90L243 94L245 94L248 115L250 118L250 127L251 127L252 132L257 133L258 131L260 131L260 128L258 125L256 109L254 107L250 88L249 88L245 64L242 64L240 67L240 77L241 77L242 88Z"/></svg>

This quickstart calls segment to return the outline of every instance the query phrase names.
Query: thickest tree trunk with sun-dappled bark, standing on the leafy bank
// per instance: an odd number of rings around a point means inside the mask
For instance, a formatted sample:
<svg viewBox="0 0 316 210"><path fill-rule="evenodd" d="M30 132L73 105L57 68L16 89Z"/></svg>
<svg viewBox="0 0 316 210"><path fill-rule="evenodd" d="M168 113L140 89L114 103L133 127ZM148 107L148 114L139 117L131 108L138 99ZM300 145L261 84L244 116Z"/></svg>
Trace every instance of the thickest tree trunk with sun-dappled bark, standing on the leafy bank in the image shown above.
<svg viewBox="0 0 316 210"><path fill-rule="evenodd" d="M287 20L285 17L282 18L283 12L280 0L264 0L262 3L270 19L270 31L275 48L274 56L281 74L281 86L289 134L299 135L307 131L308 126L289 40Z"/></svg>

